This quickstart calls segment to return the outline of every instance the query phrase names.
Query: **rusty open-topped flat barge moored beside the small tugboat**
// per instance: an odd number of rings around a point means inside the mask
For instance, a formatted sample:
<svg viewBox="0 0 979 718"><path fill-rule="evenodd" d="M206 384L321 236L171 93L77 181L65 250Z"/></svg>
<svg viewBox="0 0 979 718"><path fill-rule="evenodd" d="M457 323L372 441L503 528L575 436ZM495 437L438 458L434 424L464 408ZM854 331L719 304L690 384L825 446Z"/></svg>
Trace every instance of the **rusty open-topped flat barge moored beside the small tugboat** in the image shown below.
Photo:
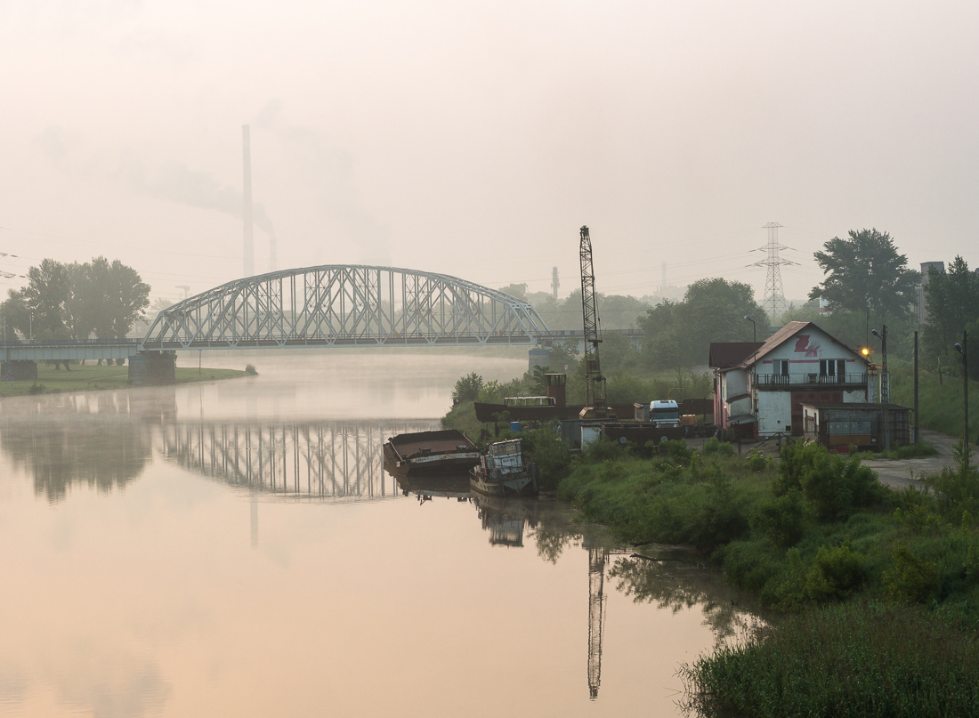
<svg viewBox="0 0 979 718"><path fill-rule="evenodd" d="M454 428L400 433L384 445L385 468L395 475L465 473L479 460L479 447Z"/></svg>

